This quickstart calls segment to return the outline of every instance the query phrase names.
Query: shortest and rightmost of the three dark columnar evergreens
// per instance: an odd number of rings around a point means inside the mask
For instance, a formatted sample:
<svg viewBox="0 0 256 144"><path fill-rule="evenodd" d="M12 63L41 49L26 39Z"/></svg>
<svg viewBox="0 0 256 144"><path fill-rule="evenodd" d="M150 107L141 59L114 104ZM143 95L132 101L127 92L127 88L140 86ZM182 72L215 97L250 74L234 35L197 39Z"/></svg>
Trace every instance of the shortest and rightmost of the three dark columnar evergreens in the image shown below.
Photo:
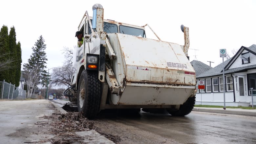
<svg viewBox="0 0 256 144"><path fill-rule="evenodd" d="M17 51L17 66L16 66L16 75L15 75L15 80L16 80L15 86L18 87L20 84L21 63L22 63L20 42L18 42L17 44L16 51Z"/></svg>

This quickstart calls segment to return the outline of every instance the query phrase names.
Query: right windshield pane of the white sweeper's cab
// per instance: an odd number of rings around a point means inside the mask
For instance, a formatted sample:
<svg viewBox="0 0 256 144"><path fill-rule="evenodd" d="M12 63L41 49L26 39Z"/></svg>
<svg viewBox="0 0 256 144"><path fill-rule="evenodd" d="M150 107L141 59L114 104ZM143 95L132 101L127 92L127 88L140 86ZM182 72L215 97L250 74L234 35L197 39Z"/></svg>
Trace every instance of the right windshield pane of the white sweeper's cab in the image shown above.
<svg viewBox="0 0 256 144"><path fill-rule="evenodd" d="M123 34L146 37L145 31L142 29L127 27L127 26L119 26L119 29L120 29L120 33L123 33Z"/></svg>

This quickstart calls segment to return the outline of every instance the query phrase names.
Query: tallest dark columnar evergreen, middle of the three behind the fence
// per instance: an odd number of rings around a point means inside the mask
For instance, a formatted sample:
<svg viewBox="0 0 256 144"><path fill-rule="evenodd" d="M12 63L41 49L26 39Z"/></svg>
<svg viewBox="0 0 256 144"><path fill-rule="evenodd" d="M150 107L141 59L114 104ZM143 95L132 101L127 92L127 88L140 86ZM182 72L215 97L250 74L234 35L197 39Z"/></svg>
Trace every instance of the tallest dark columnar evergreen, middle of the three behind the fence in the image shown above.
<svg viewBox="0 0 256 144"><path fill-rule="evenodd" d="M11 69L9 69L9 79L12 84L16 83L16 72L17 72L17 44L16 44L16 32L14 26L11 27L9 34L9 47L10 47L10 58L14 61L11 63ZM16 85L17 86L17 85Z"/></svg>

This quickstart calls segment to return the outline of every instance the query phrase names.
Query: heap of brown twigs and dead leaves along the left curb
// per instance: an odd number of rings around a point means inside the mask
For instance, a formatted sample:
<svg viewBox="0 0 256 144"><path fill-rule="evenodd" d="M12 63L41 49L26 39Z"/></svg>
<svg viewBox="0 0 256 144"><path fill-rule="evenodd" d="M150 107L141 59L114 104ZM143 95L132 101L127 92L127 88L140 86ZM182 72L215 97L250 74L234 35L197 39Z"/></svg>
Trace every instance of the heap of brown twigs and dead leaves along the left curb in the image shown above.
<svg viewBox="0 0 256 144"><path fill-rule="evenodd" d="M50 116L43 116L47 119L43 122L37 122L36 125L47 129L45 133L53 134L53 137L36 141L38 143L51 141L53 144L68 144L72 142L82 142L84 137L78 136L75 132L89 131L94 129L94 122L88 120L81 113L69 112L66 114L53 113Z"/></svg>

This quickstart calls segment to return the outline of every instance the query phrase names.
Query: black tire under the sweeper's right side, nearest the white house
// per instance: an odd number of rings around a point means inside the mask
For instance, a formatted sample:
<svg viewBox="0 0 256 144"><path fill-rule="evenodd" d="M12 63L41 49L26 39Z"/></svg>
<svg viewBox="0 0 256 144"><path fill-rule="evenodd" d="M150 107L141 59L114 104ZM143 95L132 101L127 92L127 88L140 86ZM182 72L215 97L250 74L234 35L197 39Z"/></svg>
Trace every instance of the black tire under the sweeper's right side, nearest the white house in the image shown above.
<svg viewBox="0 0 256 144"><path fill-rule="evenodd" d="M195 102L196 102L196 96L193 97L189 97L186 102L184 102L181 106L179 110L176 109L166 109L166 111L168 113L170 113L173 116L185 116L187 114L189 114L194 106L195 106Z"/></svg>

